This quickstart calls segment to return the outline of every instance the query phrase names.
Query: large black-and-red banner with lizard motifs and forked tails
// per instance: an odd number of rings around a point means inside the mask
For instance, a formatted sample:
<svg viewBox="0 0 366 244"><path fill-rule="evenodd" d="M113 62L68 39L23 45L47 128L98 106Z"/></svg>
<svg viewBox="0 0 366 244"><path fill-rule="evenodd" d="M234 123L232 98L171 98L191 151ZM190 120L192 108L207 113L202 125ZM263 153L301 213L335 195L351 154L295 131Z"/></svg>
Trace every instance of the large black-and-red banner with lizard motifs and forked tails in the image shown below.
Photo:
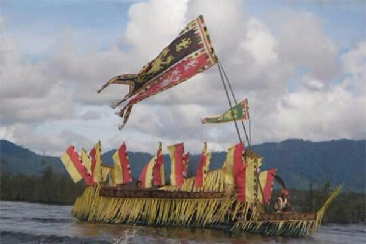
<svg viewBox="0 0 366 244"><path fill-rule="evenodd" d="M105 83L98 93L110 84L130 86L128 94L111 105L116 108L126 101L117 113L123 118L123 124L120 125L122 129L130 116L132 105L207 70L216 61L203 16L200 15L188 23L178 37L138 74L117 75Z"/></svg>

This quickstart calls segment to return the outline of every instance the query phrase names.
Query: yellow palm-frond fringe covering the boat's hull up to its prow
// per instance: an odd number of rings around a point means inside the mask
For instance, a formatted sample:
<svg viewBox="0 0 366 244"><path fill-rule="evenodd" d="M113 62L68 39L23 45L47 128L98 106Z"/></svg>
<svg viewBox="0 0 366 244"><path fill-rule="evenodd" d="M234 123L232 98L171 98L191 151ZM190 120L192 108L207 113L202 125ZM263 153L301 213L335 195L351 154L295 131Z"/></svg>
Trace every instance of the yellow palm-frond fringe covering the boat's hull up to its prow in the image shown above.
<svg viewBox="0 0 366 244"><path fill-rule="evenodd" d="M237 201L233 185L224 184L223 169L208 172L205 183L194 187L194 177L186 179L182 187L165 186L162 191L219 191L223 198L210 199L153 199L101 197L101 185L89 186L76 199L71 214L82 221L114 224L142 224L160 226L229 225L232 231L246 231L266 235L306 236L321 224L324 211L339 194L334 189L311 220L258 220L262 210L253 203Z"/></svg>

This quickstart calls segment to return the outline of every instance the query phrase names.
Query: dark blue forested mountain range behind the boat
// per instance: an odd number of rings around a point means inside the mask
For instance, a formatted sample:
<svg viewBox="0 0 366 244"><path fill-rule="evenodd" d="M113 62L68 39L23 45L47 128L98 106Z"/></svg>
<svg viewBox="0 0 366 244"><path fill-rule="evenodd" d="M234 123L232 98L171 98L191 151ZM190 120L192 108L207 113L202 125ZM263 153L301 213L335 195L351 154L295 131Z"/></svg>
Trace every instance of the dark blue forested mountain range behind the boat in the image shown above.
<svg viewBox="0 0 366 244"><path fill-rule="evenodd" d="M332 140L311 142L285 140L278 143L254 145L253 150L264 157L262 170L277 168L289 188L305 189L310 182L322 185L345 183L348 191L365 192L366 140ZM112 166L115 150L102 155L105 164ZM220 168L225 160L225 152L214 152L210 169ZM152 155L128 152L131 173L138 178L143 165ZM44 165L52 165L56 172L66 173L58 157L38 155L7 140L0 140L1 170L11 173L40 174ZM188 176L195 174L199 155L191 155ZM164 155L165 177L169 180L170 160Z"/></svg>

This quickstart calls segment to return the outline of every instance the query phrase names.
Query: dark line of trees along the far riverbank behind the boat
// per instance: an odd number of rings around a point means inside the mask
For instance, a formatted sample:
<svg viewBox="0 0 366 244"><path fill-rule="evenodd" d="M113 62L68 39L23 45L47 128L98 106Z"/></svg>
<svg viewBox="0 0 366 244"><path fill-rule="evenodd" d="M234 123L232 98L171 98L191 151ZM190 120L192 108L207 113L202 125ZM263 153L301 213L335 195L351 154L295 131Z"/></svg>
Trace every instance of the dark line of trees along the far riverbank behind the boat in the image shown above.
<svg viewBox="0 0 366 244"><path fill-rule="evenodd" d="M1 170L0 200L69 205L85 187L82 181L75 184L68 175L54 173L49 165L44 166L41 175L11 174ZM290 190L289 201L298 212L314 213L329 191L329 183L321 189L310 184L309 190ZM279 190L272 192L268 211L273 211L279 195ZM323 223L366 224L365 197L364 193L341 192L325 211Z"/></svg>

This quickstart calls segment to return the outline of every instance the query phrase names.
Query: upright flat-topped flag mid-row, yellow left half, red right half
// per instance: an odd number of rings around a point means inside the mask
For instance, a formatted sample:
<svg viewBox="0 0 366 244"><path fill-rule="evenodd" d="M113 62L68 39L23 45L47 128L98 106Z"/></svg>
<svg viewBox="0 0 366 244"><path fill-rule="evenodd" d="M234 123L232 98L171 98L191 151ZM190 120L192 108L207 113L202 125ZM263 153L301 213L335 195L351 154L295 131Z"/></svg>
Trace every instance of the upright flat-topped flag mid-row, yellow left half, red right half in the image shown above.
<svg viewBox="0 0 366 244"><path fill-rule="evenodd" d="M184 183L184 165L183 165L183 142L167 147L171 161L170 184L173 186L182 186Z"/></svg>

